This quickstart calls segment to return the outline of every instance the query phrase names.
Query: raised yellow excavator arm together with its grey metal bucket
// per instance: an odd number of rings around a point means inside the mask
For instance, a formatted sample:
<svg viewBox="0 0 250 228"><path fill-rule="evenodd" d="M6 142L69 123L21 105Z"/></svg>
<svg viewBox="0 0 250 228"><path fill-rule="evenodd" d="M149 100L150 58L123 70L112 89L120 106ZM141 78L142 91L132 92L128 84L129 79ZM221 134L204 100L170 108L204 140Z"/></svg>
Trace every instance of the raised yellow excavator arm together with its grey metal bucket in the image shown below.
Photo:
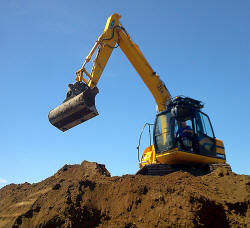
<svg viewBox="0 0 250 228"><path fill-rule="evenodd" d="M50 122L62 131L66 131L96 115L95 95L98 93L97 84L103 70L116 47L120 47L137 73L146 84L157 104L159 112L166 110L171 100L169 91L159 76L149 65L139 47L131 40L123 28L118 14L113 14L107 20L103 33L99 36L86 57L82 67L76 72L76 83L70 84L64 103L49 113ZM86 64L93 60L91 72L85 69Z"/></svg>

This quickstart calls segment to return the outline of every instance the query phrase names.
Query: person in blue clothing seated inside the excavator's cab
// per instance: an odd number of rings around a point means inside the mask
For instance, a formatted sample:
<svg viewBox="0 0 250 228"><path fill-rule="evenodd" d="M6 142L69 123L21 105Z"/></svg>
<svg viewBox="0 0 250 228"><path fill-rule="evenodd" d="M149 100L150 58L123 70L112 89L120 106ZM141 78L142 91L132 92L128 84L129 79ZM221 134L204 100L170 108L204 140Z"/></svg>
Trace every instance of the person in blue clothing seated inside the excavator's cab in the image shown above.
<svg viewBox="0 0 250 228"><path fill-rule="evenodd" d="M192 149L193 134L194 132L192 128L189 125L187 125L186 121L182 121L176 132L176 138L183 149L185 150Z"/></svg>

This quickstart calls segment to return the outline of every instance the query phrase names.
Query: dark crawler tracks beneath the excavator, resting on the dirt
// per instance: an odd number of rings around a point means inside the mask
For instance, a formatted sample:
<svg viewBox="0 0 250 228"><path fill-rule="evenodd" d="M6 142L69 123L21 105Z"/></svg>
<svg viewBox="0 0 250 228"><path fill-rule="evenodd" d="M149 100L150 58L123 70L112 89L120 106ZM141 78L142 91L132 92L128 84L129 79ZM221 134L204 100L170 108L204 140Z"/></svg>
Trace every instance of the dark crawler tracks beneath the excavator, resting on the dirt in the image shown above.
<svg viewBox="0 0 250 228"><path fill-rule="evenodd" d="M227 163L208 164L208 165L169 165L169 164L152 164L145 165L139 169L136 175L149 175L149 176L164 176L177 171L188 172L194 176L202 176L213 172L215 169L223 167L228 171L232 171L230 165Z"/></svg>

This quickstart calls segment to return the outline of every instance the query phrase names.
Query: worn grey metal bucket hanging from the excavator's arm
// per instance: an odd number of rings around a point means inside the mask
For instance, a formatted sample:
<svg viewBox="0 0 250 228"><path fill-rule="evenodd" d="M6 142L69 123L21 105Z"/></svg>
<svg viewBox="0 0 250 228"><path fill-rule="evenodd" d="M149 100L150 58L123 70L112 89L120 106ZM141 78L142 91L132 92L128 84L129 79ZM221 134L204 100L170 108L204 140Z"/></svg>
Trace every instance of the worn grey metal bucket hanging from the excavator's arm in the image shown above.
<svg viewBox="0 0 250 228"><path fill-rule="evenodd" d="M83 82L69 84L66 99L49 112L49 121L61 131L87 121L98 115L95 96L98 88L91 89Z"/></svg>

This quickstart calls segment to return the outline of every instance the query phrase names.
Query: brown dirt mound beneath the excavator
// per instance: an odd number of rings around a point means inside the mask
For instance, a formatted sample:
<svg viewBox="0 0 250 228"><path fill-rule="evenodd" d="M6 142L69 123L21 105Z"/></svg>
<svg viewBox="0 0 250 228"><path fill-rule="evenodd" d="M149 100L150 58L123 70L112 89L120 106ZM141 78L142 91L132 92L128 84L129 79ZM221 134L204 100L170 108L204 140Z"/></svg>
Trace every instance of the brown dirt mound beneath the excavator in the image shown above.
<svg viewBox="0 0 250 228"><path fill-rule="evenodd" d="M110 177L104 165L65 165L36 184L0 189L0 227L249 227L250 177Z"/></svg>

